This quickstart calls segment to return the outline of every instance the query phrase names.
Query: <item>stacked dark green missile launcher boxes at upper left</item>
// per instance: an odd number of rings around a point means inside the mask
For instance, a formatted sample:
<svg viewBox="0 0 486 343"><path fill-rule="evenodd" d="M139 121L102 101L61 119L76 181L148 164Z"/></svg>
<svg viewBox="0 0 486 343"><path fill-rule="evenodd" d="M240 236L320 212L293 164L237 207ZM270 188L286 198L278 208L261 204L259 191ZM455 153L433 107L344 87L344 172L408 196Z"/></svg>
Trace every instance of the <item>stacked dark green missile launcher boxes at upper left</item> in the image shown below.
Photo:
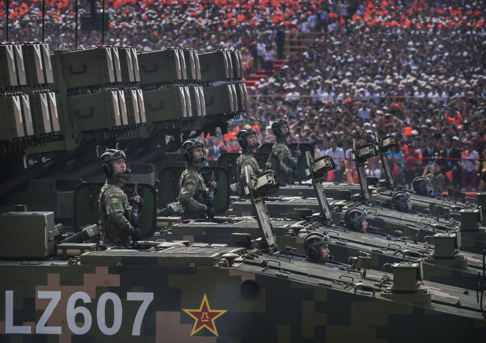
<svg viewBox="0 0 486 343"><path fill-rule="evenodd" d="M125 150L132 182L156 185L152 169L165 166L164 154L191 136L226 133L248 106L241 54L199 55L0 44L0 208L53 211L70 229L75 187L98 181L106 148Z"/></svg>

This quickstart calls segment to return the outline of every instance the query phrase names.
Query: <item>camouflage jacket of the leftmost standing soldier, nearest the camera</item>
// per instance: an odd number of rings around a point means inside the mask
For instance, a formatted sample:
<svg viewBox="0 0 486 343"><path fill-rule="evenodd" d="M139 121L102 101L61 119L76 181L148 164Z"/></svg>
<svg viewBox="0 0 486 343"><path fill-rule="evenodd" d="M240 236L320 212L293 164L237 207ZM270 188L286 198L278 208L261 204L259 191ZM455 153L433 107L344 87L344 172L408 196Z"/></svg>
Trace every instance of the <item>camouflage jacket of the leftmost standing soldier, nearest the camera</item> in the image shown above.
<svg viewBox="0 0 486 343"><path fill-rule="evenodd" d="M124 182L107 179L100 192L99 223L103 244L128 248L133 226L127 219L131 207L123 190Z"/></svg>

